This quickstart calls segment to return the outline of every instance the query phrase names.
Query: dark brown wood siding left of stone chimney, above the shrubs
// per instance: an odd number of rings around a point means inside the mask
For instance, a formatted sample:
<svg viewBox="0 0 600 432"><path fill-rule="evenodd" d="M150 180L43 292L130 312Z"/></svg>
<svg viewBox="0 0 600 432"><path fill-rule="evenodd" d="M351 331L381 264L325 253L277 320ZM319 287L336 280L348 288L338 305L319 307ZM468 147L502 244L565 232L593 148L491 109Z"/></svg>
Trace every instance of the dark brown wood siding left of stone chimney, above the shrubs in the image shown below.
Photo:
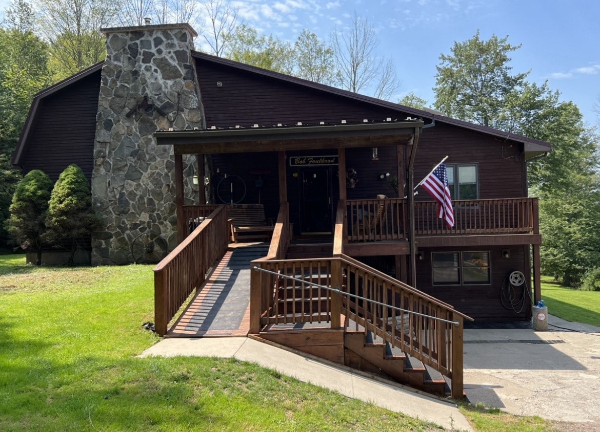
<svg viewBox="0 0 600 432"><path fill-rule="evenodd" d="M58 179L77 164L91 180L100 71L44 98L38 107L23 161L23 174L42 170Z"/></svg>

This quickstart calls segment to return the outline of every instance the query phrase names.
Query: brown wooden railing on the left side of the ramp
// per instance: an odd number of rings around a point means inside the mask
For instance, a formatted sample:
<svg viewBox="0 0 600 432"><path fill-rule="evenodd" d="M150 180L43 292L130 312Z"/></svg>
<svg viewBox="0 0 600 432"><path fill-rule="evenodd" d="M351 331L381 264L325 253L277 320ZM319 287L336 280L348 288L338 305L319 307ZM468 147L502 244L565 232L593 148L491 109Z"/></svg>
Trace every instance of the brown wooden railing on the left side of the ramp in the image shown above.
<svg viewBox="0 0 600 432"><path fill-rule="evenodd" d="M209 268L227 250L227 209L225 206L212 208L211 213L197 209L197 213L187 214L190 218L196 215L206 219L154 267L154 323L160 336L167 333L169 321L179 307L202 285Z"/></svg>

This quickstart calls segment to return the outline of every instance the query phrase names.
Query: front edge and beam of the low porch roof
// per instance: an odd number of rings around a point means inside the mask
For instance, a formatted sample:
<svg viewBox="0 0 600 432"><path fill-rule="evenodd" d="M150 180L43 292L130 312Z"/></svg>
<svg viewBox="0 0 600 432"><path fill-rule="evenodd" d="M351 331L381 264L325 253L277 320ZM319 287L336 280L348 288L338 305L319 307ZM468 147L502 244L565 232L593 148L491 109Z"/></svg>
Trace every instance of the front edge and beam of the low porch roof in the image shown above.
<svg viewBox="0 0 600 432"><path fill-rule="evenodd" d="M378 147L413 143L421 120L336 125L256 126L253 128L158 131L159 145L172 145L176 155L274 152L281 150Z"/></svg>

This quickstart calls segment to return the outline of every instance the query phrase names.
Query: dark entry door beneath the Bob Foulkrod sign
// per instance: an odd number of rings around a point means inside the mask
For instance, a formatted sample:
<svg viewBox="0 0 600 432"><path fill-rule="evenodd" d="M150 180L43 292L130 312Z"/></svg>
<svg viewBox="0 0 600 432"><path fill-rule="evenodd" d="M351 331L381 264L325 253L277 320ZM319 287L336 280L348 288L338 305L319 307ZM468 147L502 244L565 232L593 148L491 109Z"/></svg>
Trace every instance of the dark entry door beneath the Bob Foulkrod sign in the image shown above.
<svg viewBox="0 0 600 432"><path fill-rule="evenodd" d="M331 232L331 179L329 167L303 168L300 231Z"/></svg>

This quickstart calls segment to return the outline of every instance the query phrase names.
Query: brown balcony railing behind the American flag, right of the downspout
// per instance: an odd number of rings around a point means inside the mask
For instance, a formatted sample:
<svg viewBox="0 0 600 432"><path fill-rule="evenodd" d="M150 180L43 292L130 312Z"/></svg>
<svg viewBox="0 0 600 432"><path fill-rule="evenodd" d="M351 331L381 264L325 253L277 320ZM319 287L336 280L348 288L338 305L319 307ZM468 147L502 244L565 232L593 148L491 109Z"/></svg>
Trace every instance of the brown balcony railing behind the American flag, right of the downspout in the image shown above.
<svg viewBox="0 0 600 432"><path fill-rule="evenodd" d="M415 203L416 235L539 234L538 198L453 201L454 226L437 217L437 203Z"/></svg>

